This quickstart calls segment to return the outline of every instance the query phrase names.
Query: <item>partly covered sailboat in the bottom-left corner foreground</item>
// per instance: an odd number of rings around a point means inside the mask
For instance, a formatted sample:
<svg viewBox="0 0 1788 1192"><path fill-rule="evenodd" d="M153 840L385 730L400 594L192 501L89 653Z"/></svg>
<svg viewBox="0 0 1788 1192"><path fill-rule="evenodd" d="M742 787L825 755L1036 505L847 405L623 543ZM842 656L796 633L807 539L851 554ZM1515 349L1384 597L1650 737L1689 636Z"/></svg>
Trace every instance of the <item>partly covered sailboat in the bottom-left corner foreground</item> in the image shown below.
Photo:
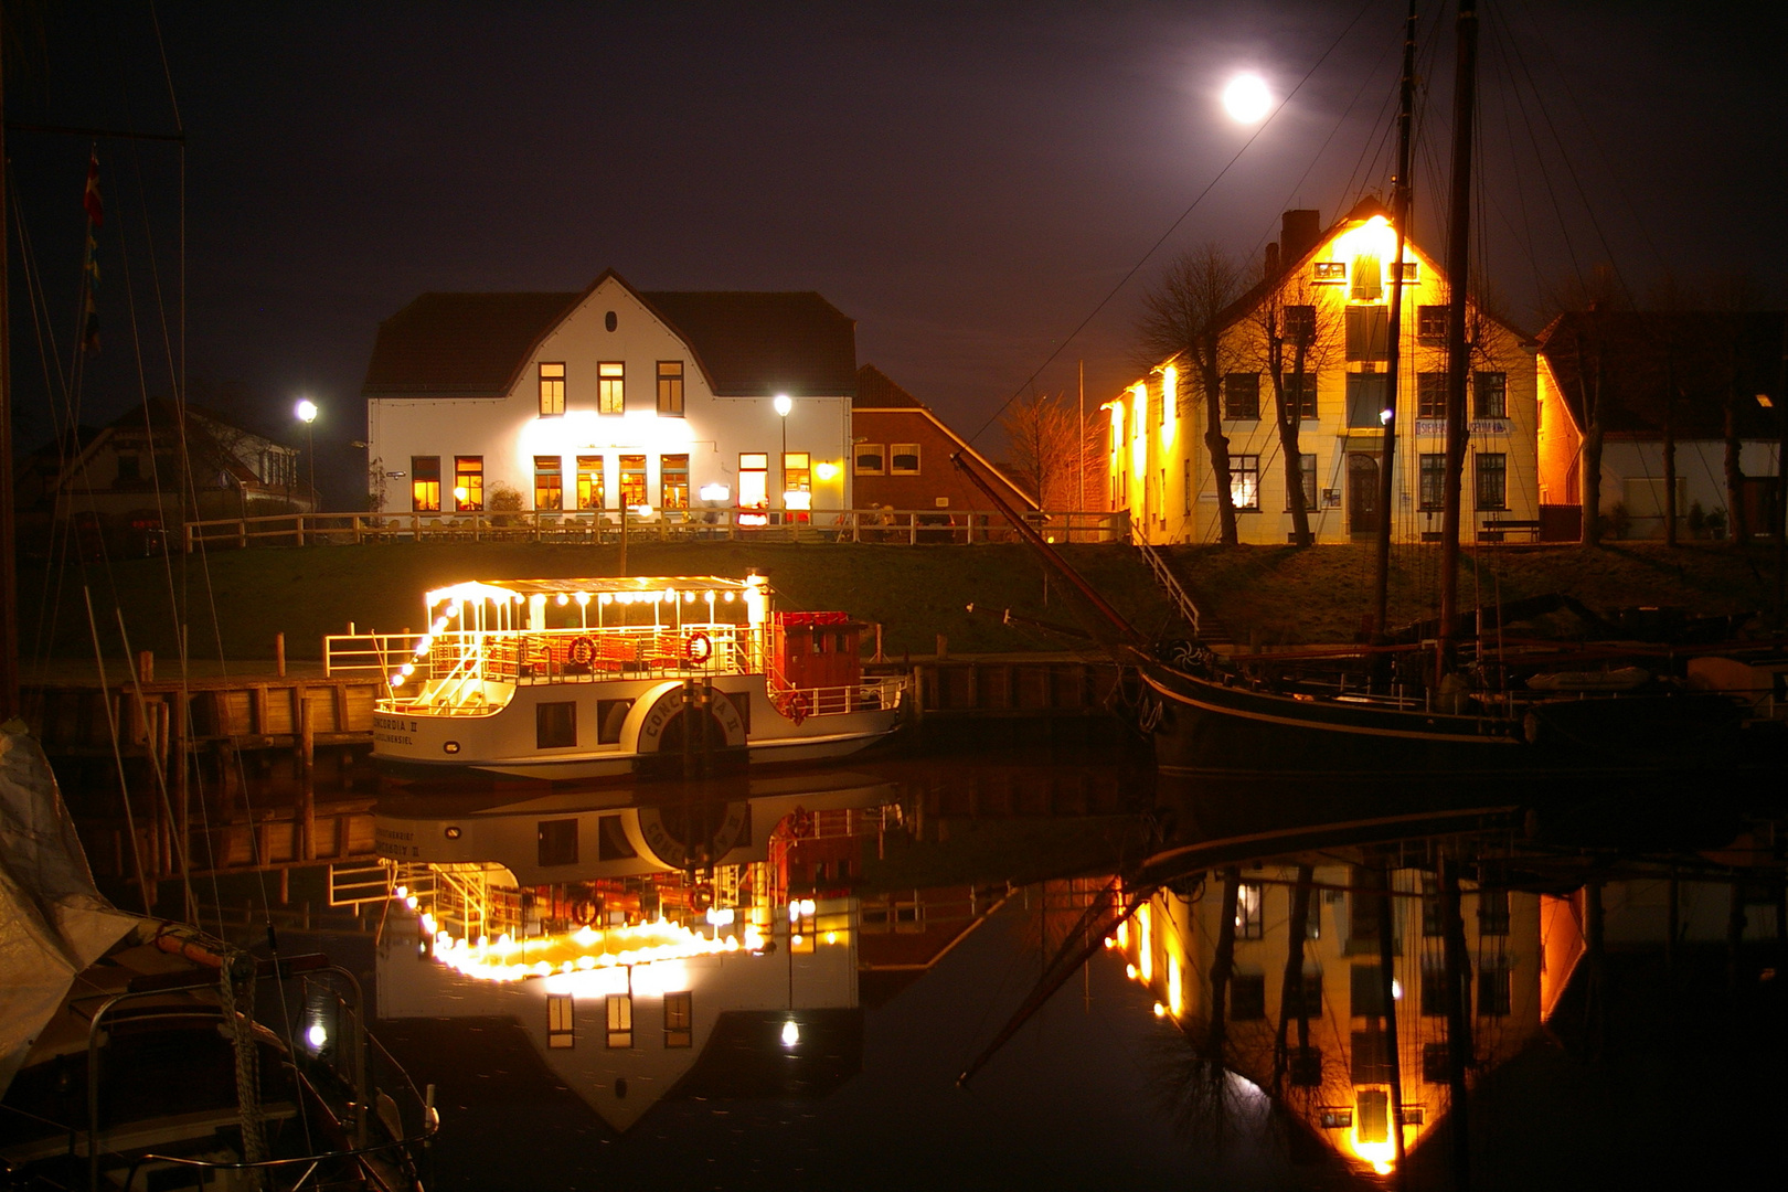
<svg viewBox="0 0 1788 1192"><path fill-rule="evenodd" d="M23 735L0 733L0 1162L18 1187L418 1187L434 1112L367 1037L350 972L111 908Z"/></svg>

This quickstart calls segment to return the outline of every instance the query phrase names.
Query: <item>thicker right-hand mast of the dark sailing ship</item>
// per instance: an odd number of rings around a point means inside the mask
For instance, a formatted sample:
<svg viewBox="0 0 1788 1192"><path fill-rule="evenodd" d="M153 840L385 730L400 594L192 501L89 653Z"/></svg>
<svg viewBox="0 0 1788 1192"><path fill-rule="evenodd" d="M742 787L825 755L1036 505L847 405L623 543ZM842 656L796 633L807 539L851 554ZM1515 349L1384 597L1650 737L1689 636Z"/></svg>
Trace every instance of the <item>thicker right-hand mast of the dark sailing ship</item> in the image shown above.
<svg viewBox="0 0 1788 1192"><path fill-rule="evenodd" d="M1472 270L1472 125L1477 109L1477 0L1459 0L1459 63L1454 68L1454 166L1446 213L1446 474L1441 513L1439 668L1452 667L1459 622L1459 481L1464 475L1464 393L1470 365L1464 304Z"/></svg>

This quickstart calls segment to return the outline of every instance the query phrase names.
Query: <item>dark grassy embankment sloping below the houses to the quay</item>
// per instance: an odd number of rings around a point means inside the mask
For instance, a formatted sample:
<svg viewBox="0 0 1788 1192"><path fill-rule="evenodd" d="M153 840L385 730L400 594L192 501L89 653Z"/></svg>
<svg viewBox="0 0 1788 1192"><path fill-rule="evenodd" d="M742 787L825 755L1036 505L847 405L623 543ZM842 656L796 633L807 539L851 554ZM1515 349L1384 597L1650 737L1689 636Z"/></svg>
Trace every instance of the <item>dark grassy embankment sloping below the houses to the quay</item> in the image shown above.
<svg viewBox="0 0 1788 1192"><path fill-rule="evenodd" d="M1148 633L1169 624L1137 552L1125 547L1071 547L1069 559L1126 617ZM1432 613L1434 550L1400 549L1393 574L1393 622ZM1348 642L1370 600L1370 547L1182 547L1182 572L1207 613L1246 640L1266 643ZM1484 550L1466 556L1461 599L1472 606L1547 592L1568 592L1598 609L1640 604L1686 606L1699 613L1770 608L1774 552L1720 547L1665 550L1622 545L1598 550ZM191 656L215 659L218 642L231 661L272 658L274 634L286 634L288 656L316 658L324 633L358 629L395 633L422 625L422 593L460 579L604 575L619 563L615 547L535 543L367 545L220 550L202 559L173 559L172 588L186 593ZM783 608L846 609L887 625L887 651L932 654L935 634L951 652L1064 649L1064 640L1008 629L998 615L971 615L973 600L991 609L1067 622L1073 613L1058 584L1044 604L1042 568L1023 547L881 547L790 543L676 543L631 547L633 574L771 577ZM161 658L175 652L170 577L161 559L89 567L93 606L107 654L120 654L116 617L125 611L134 649ZM59 599L45 600L45 577L20 575L21 652L43 656L43 609L54 606L50 656L91 658L79 570L61 579ZM54 584L52 584L54 588ZM216 609L213 618L211 609Z"/></svg>

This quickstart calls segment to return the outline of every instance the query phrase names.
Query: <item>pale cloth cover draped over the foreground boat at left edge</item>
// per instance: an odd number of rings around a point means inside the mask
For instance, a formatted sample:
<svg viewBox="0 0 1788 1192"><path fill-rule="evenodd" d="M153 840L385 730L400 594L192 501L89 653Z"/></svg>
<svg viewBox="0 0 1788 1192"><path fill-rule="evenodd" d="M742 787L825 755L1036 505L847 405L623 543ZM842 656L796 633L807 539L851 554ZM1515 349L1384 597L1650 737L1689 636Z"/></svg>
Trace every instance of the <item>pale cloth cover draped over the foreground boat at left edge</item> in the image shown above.
<svg viewBox="0 0 1788 1192"><path fill-rule="evenodd" d="M0 727L0 1094L82 969L141 922L93 885L43 747Z"/></svg>

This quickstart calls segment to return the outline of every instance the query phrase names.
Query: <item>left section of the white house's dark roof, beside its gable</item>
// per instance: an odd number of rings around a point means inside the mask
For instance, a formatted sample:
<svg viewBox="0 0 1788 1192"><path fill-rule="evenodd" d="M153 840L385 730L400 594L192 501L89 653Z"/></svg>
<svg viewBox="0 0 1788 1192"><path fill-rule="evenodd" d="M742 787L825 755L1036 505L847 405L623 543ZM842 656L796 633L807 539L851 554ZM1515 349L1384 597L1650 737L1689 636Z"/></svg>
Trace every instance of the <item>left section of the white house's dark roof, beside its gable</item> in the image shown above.
<svg viewBox="0 0 1788 1192"><path fill-rule="evenodd" d="M379 323L365 397L497 397L579 293L426 293Z"/></svg>

